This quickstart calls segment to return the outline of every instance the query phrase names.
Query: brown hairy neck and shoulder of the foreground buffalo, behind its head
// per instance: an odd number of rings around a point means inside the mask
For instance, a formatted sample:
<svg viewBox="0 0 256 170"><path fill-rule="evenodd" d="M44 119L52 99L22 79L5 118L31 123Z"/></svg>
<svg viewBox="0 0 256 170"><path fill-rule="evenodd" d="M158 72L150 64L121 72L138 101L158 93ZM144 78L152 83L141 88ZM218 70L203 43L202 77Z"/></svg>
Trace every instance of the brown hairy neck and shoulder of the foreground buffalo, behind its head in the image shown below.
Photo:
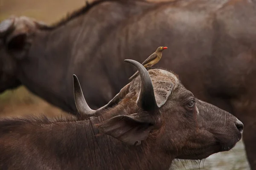
<svg viewBox="0 0 256 170"><path fill-rule="evenodd" d="M39 156L35 162L26 163L28 169L49 166L56 170L167 170L173 160L160 153L161 146L150 138L139 146L131 146L111 136L99 134L96 125L104 121L103 116L83 121L66 119L53 122L47 119L2 120L0 136L2 141L6 141L4 144L7 144L7 150L3 152L15 156L18 153L12 149L21 144L27 152L17 162L29 160L33 154L35 158ZM9 131L12 131L11 138L6 135ZM17 142L8 147L8 140ZM12 166L9 159L5 161L6 165Z"/></svg>

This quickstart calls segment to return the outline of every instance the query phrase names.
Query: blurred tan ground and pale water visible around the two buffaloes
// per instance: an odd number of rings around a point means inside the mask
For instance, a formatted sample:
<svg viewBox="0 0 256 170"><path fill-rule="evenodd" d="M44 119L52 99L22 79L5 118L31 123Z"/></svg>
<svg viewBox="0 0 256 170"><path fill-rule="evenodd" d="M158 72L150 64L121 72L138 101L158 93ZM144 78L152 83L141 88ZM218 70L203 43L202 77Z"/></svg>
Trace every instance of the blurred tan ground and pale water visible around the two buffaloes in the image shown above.
<svg viewBox="0 0 256 170"><path fill-rule="evenodd" d="M85 0L0 0L0 21L11 15L25 15L51 24L84 4ZM37 113L43 113L49 117L67 114L33 95L23 86L0 94L0 116ZM200 164L199 162L177 161L177 166L174 168L182 170L249 170L242 142L239 142L233 150L214 154L201 161Z"/></svg>

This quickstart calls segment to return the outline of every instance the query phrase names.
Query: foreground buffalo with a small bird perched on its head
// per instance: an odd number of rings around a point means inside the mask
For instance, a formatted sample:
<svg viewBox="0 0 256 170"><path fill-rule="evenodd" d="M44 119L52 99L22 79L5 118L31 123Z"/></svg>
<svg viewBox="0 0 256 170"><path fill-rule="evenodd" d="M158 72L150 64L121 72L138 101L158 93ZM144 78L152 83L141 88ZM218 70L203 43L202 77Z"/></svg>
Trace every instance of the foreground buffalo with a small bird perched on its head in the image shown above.
<svg viewBox="0 0 256 170"><path fill-rule="evenodd" d="M196 99L175 74L126 62L140 76L98 117L0 119L0 169L167 170L175 158L204 159L241 139L242 122ZM91 110L76 76L74 93Z"/></svg>

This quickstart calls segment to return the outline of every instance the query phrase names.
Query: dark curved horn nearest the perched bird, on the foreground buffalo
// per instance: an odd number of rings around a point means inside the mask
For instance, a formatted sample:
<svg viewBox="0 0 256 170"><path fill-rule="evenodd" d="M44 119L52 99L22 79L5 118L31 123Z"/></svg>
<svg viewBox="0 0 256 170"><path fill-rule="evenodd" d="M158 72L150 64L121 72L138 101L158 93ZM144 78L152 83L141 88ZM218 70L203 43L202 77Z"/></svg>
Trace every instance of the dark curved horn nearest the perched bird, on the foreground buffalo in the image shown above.
<svg viewBox="0 0 256 170"><path fill-rule="evenodd" d="M153 111L157 109L154 89L148 71L140 64L140 62L135 60L125 59L125 62L134 65L140 73L140 96L137 98L137 105L144 111Z"/></svg>

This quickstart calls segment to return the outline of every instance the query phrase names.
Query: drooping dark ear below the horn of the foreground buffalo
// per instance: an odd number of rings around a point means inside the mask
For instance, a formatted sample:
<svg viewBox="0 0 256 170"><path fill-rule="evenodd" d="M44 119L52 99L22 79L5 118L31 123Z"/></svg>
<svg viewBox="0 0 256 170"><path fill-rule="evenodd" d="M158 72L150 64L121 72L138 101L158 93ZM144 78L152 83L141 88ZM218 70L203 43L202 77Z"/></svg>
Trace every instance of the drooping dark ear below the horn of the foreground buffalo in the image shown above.
<svg viewBox="0 0 256 170"><path fill-rule="evenodd" d="M156 119L147 113L134 113L129 116L115 116L101 125L99 130L130 145L140 145L148 138Z"/></svg>

